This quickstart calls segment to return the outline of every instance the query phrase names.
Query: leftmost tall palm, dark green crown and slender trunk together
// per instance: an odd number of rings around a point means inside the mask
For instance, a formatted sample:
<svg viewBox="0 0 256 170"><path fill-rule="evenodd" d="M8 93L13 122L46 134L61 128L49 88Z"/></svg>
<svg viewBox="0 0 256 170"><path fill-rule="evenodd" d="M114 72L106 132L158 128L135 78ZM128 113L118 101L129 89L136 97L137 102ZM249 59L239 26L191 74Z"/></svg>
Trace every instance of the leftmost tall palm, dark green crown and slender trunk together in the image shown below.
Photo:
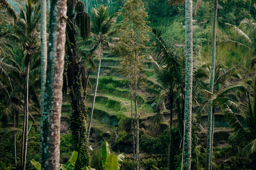
<svg viewBox="0 0 256 170"><path fill-rule="evenodd" d="M26 68L26 88L24 94L24 126L23 126L23 145L22 145L22 169L26 168L27 154L27 132L28 132L28 87L30 78L30 64L34 62L33 58L39 52L39 20L40 20L40 3L33 4L31 0L24 2L24 8L21 3L19 5L19 20L15 25L15 34L7 34L15 39L20 50L23 52L23 61ZM7 36L6 35L6 36Z"/></svg>

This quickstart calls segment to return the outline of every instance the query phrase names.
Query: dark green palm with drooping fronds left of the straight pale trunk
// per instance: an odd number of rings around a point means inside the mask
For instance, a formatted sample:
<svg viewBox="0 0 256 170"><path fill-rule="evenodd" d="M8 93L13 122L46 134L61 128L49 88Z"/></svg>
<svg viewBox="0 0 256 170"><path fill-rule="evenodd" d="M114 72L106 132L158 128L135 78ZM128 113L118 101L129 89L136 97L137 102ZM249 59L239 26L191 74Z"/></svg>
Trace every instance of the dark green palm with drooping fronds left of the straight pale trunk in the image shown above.
<svg viewBox="0 0 256 170"><path fill-rule="evenodd" d="M150 41L155 42L155 58L160 61L160 65L154 61L155 72L157 73L158 83L148 82L147 86L150 92L157 92L160 94L164 91L167 95L168 107L170 109L170 131L169 131L169 148L168 148L168 169L170 169L171 158L171 130L172 117L174 109L174 96L177 87L181 84L181 68L180 59L174 53L175 44L162 37L160 30L155 30L150 33Z"/></svg>

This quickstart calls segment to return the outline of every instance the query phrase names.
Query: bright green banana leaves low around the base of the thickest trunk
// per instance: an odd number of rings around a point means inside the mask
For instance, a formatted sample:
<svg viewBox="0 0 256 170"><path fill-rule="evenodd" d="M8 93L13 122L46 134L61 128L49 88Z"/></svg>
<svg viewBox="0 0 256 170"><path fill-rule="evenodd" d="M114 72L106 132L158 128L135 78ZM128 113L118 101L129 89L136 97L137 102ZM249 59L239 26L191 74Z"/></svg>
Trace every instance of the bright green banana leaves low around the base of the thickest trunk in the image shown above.
<svg viewBox="0 0 256 170"><path fill-rule="evenodd" d="M77 156L78 156L78 152L73 151L71 158L68 160L68 162L65 164L60 164L60 170L73 170L75 168ZM31 163L34 165L36 169L41 170L41 164L39 162L36 162L34 159L32 159ZM95 169L90 168L85 170L95 170Z"/></svg>

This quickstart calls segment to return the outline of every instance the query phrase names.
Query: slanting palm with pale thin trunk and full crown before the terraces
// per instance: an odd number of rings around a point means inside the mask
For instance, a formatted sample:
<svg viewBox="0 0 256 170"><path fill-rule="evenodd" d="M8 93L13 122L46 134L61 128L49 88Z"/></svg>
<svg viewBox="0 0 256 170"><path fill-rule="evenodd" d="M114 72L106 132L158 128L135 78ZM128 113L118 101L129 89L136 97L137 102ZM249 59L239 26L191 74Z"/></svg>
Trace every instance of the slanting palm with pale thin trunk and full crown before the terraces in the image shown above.
<svg viewBox="0 0 256 170"><path fill-rule="evenodd" d="M98 77L100 76L101 58L103 56L104 50L108 46L110 47L113 46L113 44L109 42L109 39L113 34L112 29L114 27L114 24L117 22L117 17L120 15L119 12L115 12L113 15L109 16L109 7L105 7L104 5L101 5L98 9L92 8L92 14L93 14L92 36L96 41L96 44L94 45L93 49L90 50L90 53L94 52L97 54L97 57L99 59L99 64L98 64L96 87L93 95L92 112L90 113L87 141L89 141L90 127L92 126L93 110L94 110L94 104L95 104L97 87L98 87Z"/></svg>

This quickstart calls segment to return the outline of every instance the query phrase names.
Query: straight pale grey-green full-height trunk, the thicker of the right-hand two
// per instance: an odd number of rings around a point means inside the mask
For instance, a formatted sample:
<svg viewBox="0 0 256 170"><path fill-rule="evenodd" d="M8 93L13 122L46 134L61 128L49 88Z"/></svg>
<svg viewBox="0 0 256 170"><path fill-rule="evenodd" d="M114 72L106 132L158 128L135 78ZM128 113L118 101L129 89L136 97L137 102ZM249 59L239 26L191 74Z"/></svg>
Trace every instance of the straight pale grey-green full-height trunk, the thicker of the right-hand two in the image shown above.
<svg viewBox="0 0 256 170"><path fill-rule="evenodd" d="M184 134L184 169L191 169L191 118L192 118L192 76L193 76L193 28L192 0L185 0L185 134Z"/></svg>

